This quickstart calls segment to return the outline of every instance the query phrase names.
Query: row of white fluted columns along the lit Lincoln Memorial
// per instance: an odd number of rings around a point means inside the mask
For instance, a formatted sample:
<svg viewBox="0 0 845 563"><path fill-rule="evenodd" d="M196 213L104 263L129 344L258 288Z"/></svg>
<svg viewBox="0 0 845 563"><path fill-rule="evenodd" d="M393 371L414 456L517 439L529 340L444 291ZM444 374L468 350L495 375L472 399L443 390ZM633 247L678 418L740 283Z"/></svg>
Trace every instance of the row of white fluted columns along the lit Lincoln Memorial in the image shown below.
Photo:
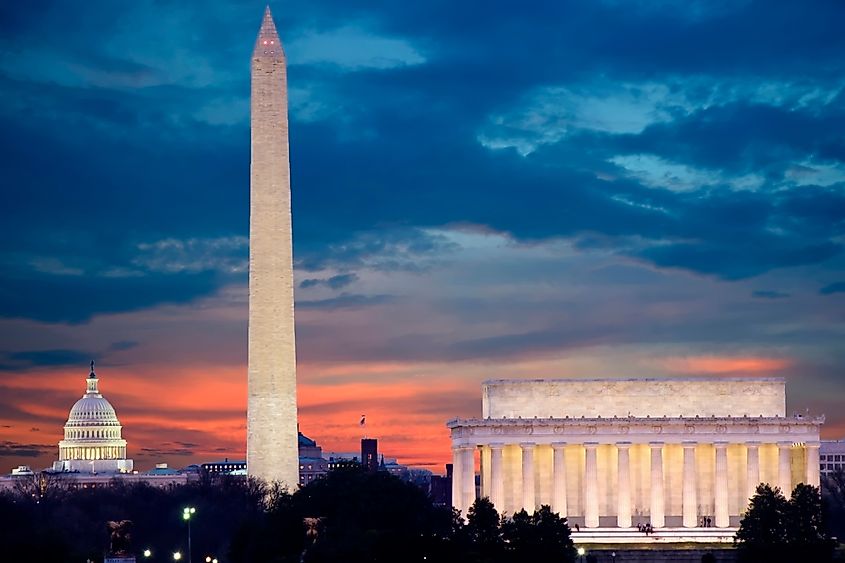
<svg viewBox="0 0 845 563"><path fill-rule="evenodd" d="M566 443L551 444L553 450L553 482L552 509L562 515L567 514L566 501ZM696 483L696 442L683 442L683 526L694 528L698 525L698 498ZM730 526L728 508L728 443L716 442L715 463L715 521L717 528ZM760 483L760 451L759 442L748 442L747 452L747 483L746 498L754 495ZM792 442L778 442L778 486L785 495L792 492L791 449ZM522 450L522 506L531 510L537 505L534 470L533 443L519 444ZM584 456L584 524L587 528L599 525L599 495L598 495L598 442L583 444ZM617 511L616 525L620 528L630 528L631 514L631 462L630 442L617 442ZM649 444L651 453L651 498L650 521L655 528L665 526L665 497L663 475L663 442ZM504 506L504 468L503 449L505 444L488 444L490 448L490 500L496 507ZM819 444L805 445L807 448L806 482L815 486L819 483ZM475 500L475 464L473 446L462 446L453 449L453 504L467 510Z"/></svg>

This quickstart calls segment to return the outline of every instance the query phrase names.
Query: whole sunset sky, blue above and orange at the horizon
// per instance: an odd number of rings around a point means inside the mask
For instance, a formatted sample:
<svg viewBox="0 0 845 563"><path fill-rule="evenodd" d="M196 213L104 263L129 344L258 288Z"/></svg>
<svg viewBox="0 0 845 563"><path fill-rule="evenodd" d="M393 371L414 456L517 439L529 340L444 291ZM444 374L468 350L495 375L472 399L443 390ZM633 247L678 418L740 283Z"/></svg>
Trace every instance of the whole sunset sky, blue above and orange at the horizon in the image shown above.
<svg viewBox="0 0 845 563"><path fill-rule="evenodd" d="M324 451L442 472L511 377L783 377L845 436L845 4L270 5ZM136 467L243 458L263 10L0 4L0 471L91 359Z"/></svg>

